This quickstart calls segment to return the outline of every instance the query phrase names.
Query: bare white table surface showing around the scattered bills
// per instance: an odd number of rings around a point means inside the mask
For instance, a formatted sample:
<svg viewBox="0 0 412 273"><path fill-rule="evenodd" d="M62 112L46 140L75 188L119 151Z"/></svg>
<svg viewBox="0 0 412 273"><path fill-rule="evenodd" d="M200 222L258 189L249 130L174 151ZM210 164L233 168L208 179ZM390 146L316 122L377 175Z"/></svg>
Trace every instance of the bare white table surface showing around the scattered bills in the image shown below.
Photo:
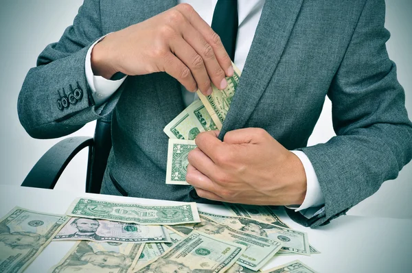
<svg viewBox="0 0 412 273"><path fill-rule="evenodd" d="M171 201L126 198L112 195L74 193L48 189L34 189L0 185L0 217L14 206L44 213L64 214L74 198L89 197L139 204L170 204ZM230 215L222 206L198 204L198 209L210 213ZM295 259L318 272L412 272L412 219L342 216L327 226L304 228L293 222L286 213L278 215L282 221L308 233L309 242L321 254L275 257L264 269L273 268ZM52 241L25 272L47 272L73 246L70 241Z"/></svg>

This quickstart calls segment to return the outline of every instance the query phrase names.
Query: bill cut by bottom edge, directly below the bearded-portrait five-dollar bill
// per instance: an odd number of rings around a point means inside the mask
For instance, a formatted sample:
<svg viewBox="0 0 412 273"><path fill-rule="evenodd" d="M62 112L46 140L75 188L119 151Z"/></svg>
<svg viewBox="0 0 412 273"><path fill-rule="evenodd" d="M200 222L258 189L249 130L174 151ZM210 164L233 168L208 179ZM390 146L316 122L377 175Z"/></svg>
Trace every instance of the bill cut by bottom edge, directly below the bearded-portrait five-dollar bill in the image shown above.
<svg viewBox="0 0 412 273"><path fill-rule="evenodd" d="M144 244L78 241L49 273L126 273L137 263Z"/></svg>

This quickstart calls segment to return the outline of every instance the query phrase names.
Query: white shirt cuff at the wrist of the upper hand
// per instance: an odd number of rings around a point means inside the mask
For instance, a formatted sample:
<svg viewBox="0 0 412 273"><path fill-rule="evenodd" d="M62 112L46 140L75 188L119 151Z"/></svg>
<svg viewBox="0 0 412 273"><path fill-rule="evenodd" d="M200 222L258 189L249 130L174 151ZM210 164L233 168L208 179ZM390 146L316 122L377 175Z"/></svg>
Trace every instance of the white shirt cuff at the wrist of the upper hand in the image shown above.
<svg viewBox="0 0 412 273"><path fill-rule="evenodd" d="M91 45L91 47L87 51L86 61L84 64L87 84L89 84L89 87L91 89L91 95L95 101L96 106L104 104L104 102L106 102L106 100L117 91L117 89L122 85L122 83L126 79L126 76L124 76L124 78L120 80L107 80L102 76L95 76L93 74L93 70L91 69L91 51L93 50L93 47L97 43L99 43L104 37L106 37L106 35L100 38L99 40L95 41L95 43Z"/></svg>

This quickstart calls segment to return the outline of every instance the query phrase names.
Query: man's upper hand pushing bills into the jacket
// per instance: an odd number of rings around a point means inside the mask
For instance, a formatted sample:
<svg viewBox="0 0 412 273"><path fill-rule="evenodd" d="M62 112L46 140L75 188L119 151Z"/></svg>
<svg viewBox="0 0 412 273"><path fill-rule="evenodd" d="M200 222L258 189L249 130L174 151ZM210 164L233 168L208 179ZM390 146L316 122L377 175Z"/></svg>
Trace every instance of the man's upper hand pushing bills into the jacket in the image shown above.
<svg viewBox="0 0 412 273"><path fill-rule="evenodd" d="M210 83L224 89L233 75L220 37L188 4L176 5L146 21L108 34L93 47L95 75L145 75L165 71L188 91L211 94Z"/></svg>

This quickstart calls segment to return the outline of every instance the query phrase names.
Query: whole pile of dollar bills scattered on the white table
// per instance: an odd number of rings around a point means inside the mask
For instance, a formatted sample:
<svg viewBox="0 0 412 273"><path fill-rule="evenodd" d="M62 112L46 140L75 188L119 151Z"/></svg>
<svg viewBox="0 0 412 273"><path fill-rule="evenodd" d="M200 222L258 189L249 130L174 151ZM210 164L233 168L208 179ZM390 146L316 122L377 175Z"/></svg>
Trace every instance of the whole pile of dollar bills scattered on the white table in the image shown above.
<svg viewBox="0 0 412 273"><path fill-rule="evenodd" d="M233 216L198 211L196 203L91 198L74 200L66 215L16 207L0 219L0 272L23 272L52 241L76 244L49 272L256 272L277 255L320 253L273 207L227 209ZM264 272L315 273L300 261Z"/></svg>

